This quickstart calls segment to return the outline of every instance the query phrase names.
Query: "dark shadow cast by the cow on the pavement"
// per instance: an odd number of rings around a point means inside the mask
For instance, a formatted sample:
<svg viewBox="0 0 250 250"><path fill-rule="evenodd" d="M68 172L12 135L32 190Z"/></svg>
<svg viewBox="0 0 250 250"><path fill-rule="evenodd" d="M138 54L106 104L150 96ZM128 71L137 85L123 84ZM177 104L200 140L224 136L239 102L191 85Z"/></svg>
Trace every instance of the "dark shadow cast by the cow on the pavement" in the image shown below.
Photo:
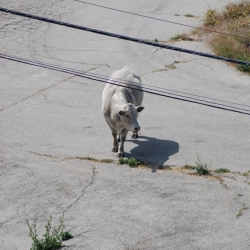
<svg viewBox="0 0 250 250"><path fill-rule="evenodd" d="M153 137L140 136L138 139L127 140L137 144L127 157L135 157L154 166L163 165L171 155L179 152L179 144L175 141L161 140Z"/></svg>

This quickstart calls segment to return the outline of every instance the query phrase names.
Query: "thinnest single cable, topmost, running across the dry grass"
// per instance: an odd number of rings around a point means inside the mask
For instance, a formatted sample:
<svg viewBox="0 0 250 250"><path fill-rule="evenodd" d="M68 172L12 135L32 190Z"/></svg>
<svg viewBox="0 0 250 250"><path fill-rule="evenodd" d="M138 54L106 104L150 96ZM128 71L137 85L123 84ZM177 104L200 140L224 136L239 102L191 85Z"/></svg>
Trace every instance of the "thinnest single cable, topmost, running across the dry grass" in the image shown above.
<svg viewBox="0 0 250 250"><path fill-rule="evenodd" d="M187 25L187 24L183 24L183 23L172 22L172 21L168 21L168 20L165 20L165 19L161 19L161 18L146 16L146 15L138 14L138 13L135 13L135 12L130 12L130 11L125 11L125 10L115 9L115 8L111 8L111 7L107 7L107 6L103 6L103 5L99 5L99 4L94 4L94 3L89 3L89 2L85 2L85 1L81 1L81 0L74 0L74 1L80 2L80 3L84 3L84 4L88 4L88 5L92 5L92 6L96 6L96 7L100 7L100 8L103 8L103 9L114 10L114 11L118 11L118 12L130 14L130 15L134 15L134 16L140 16L140 17L144 17L144 18L148 18L148 19L153 19L153 20L156 20L156 21L161 21L161 22L166 22L166 23L181 25L181 26L185 26L185 27L189 27L189 28L194 28L194 29L200 29L200 30L204 30L206 32L213 32L213 33L218 33L218 34L222 34L222 35L227 35L227 36L233 36L233 37L237 37L237 38L242 38L242 39L249 39L248 37L244 37L244 36L237 36L237 35L232 35L232 34L229 34L229 33L223 33L223 32L219 32L219 31L209 30L209 29L205 29L205 28L201 28L201 27L196 27L196 26L192 26L192 25Z"/></svg>

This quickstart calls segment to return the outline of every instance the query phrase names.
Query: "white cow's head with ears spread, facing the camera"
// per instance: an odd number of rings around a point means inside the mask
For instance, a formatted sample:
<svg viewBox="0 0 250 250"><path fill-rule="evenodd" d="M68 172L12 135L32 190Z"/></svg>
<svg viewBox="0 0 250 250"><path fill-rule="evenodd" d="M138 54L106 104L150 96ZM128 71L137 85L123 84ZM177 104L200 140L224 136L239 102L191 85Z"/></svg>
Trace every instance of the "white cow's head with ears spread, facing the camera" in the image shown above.
<svg viewBox="0 0 250 250"><path fill-rule="evenodd" d="M127 130L132 131L133 133L138 133L141 129L138 124L137 117L138 113L144 109L142 106L135 107L132 103L127 103L122 109L118 112L121 122Z"/></svg>

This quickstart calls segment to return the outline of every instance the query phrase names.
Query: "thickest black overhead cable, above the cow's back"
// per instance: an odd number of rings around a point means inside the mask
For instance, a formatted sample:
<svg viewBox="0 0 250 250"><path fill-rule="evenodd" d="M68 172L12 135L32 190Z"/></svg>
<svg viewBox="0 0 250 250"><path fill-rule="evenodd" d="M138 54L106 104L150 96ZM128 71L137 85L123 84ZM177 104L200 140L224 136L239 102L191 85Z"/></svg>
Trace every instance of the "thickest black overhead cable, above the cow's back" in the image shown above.
<svg viewBox="0 0 250 250"><path fill-rule="evenodd" d="M92 28L88 28L88 27L84 27L84 26L80 26L80 25L75 25L75 24L61 22L61 21L57 21L57 20L53 20L53 19L49 19L49 18L45 18L45 17L31 15L28 13L10 10L10 9L6 9L6 8L2 8L2 7L0 7L0 11L14 14L14 15L18 15L18 16L22 16L22 17L35 19L35 20L39 20L39 21L43 21L43 22L47 22L47 23L57 24L57 25L61 25L61 26L69 27L69 28L84 30L84 31L92 32L92 33L99 34L99 35L115 37L115 38L126 40L126 41L146 44L146 45L150 45L150 46L154 46L154 47L158 47L158 48L170 49L170 50L188 53L188 54L192 54L192 55L198 55L198 56L202 56L202 57L207 57L207 58L223 60L223 61L227 61L227 62L232 62L232 63L250 66L250 62L246 62L246 61L242 61L242 60L237 60L237 59L232 59L232 58L222 57L222 56L216 56L216 55L198 52L198 51L194 51L194 50L188 50L188 49L183 49L183 48L179 48L179 47L174 47L174 46L170 46L167 44L151 42L151 41L147 41L147 40L143 40L143 39L138 39L138 38L133 38L133 37L124 36L124 35L120 35L120 34L110 33L110 32L106 32L106 31L102 31L102 30L92 29Z"/></svg>

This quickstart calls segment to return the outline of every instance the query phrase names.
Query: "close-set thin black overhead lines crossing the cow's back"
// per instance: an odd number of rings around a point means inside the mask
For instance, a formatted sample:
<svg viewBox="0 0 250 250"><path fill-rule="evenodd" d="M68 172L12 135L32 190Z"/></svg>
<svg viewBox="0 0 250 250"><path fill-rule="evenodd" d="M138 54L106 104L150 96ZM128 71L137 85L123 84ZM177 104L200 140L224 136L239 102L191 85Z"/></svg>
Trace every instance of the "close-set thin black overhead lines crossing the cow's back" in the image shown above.
<svg viewBox="0 0 250 250"><path fill-rule="evenodd" d="M121 84L121 82L119 80L113 80L113 79L110 79L110 78L106 78L105 76L103 76L103 78L94 77L94 76L91 76L89 73L82 73L80 71L76 71L76 70L73 70L73 69L69 69L69 68L65 68L65 67L61 67L61 66L56 66L56 65L51 65L51 64L47 64L47 63L42 63L42 62L39 62L39 61L34 61L34 60L25 59L25 58L21 58L21 57L10 56L10 55L6 55L6 54L3 54L3 53L0 53L0 58L4 58L4 59L8 59L8 60L11 60L11 61L16 61L16 62L28 64L28 65L38 66L38 67L42 67L42 68L52 69L52 70L72 74L72 75L75 75L75 76L83 77L83 78L86 78L86 79L103 82L103 83L107 83L107 81L108 81L109 84L112 84L112 85L125 86L125 87L128 87L130 89L134 89L134 90L137 90L137 91L143 91L145 93L154 94L154 95L157 95L157 96L172 98L172 99L180 100L180 101L186 101L186 102L190 102L190 103L194 103L194 104L200 104L200 105L203 105L203 106L217 108L217 109L226 110L226 111L231 111L231 112L235 112L235 113L239 113L239 114L250 115L250 110L240 109L240 108L237 108L237 107L233 107L233 109L231 109L229 106L225 107L225 105L224 105L224 107L222 107L222 105L220 105L218 103L215 103L215 104L214 103L208 103L207 101L199 102L198 100L190 100L190 99L185 99L185 98L181 98L181 97L173 96L173 95L169 95L169 94L157 93L157 92L154 92L154 91L147 90L145 88L143 88L143 89L142 88L137 88L134 85L128 84L128 83L126 83L126 85L124 85L124 84ZM127 86L127 85L130 85L130 86ZM205 102L207 102L207 103L205 103ZM1 110L2 109L0 109L0 111Z"/></svg>

